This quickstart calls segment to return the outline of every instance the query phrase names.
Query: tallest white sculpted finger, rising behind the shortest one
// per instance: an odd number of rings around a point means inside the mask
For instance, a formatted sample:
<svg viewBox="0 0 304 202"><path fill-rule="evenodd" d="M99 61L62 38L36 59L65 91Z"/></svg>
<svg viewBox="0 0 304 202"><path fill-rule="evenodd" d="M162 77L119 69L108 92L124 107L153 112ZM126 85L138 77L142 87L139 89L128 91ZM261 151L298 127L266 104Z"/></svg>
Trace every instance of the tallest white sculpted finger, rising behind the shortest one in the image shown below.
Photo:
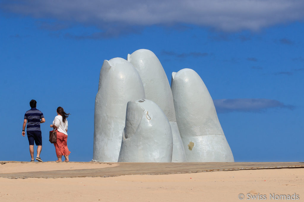
<svg viewBox="0 0 304 202"><path fill-rule="evenodd" d="M185 150L176 123L172 91L161 62L147 49L128 54L127 59L138 71L143 82L146 99L155 102L167 116L173 135L172 162L185 162Z"/></svg>

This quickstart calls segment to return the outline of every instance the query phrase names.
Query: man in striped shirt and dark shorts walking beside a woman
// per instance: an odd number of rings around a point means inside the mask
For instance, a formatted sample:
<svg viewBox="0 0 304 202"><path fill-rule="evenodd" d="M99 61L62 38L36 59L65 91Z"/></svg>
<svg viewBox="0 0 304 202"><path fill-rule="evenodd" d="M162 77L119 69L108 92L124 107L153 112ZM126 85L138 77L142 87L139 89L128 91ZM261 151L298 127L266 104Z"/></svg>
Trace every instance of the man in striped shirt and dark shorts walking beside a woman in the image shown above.
<svg viewBox="0 0 304 202"><path fill-rule="evenodd" d="M42 136L41 136L41 130L40 130L40 123L44 123L45 119L41 111L36 109L36 100L31 100L29 102L29 105L31 106L31 109L29 111L26 111L24 115L24 122L22 127L22 136L25 135L25 126L26 126L26 134L27 138L29 139L29 153L31 154L32 160L31 162L34 162L34 141L37 146L37 161L42 161L40 158L40 152L42 149ZM41 120L40 120L41 119Z"/></svg>

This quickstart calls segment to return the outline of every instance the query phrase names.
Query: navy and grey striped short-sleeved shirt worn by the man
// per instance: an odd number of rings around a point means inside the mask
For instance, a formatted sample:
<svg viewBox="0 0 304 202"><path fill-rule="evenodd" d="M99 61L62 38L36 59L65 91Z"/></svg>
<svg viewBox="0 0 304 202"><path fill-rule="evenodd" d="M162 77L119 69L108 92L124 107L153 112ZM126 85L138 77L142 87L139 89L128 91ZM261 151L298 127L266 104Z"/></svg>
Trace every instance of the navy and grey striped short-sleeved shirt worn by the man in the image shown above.
<svg viewBox="0 0 304 202"><path fill-rule="evenodd" d="M41 111L36 108L31 108L24 114L24 119L27 119L26 131L41 131L40 119L44 118Z"/></svg>

